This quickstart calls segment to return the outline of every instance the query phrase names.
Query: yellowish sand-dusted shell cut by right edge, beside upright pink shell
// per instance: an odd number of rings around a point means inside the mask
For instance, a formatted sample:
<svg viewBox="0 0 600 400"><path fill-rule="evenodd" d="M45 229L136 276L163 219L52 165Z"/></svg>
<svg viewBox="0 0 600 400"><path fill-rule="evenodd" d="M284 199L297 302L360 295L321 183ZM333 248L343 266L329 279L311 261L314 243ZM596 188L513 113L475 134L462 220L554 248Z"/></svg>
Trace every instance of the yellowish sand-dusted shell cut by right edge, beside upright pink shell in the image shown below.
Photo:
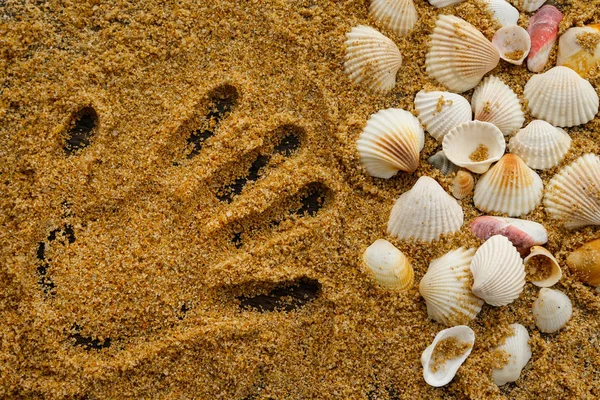
<svg viewBox="0 0 600 400"><path fill-rule="evenodd" d="M560 35L556 65L569 67L582 77L600 63L600 24L574 27Z"/></svg>

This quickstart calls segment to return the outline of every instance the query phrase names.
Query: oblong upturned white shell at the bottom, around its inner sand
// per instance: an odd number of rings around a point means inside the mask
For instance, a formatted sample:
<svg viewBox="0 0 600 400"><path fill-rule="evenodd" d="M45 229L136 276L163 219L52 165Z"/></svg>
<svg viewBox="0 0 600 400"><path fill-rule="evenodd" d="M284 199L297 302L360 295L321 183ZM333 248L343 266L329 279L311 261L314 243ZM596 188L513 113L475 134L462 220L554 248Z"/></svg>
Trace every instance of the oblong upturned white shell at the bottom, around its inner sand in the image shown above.
<svg viewBox="0 0 600 400"><path fill-rule="evenodd" d="M446 359L443 357L443 364L436 365L435 349L443 340L453 340L464 348L464 352L458 357ZM456 372L465 362L475 344L475 332L465 325L454 326L452 328L440 331L421 355L421 365L423 366L423 378L425 382L434 387L441 387L449 383L456 375Z"/></svg>

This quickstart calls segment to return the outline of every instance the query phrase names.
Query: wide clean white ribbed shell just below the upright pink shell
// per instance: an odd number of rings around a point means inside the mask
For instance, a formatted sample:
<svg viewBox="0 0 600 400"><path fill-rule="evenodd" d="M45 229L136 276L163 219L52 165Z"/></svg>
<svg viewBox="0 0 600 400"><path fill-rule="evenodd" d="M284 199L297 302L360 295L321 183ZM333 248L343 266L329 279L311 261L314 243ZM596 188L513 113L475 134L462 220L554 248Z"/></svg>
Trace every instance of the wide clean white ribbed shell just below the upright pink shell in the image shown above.
<svg viewBox="0 0 600 400"><path fill-rule="evenodd" d="M567 67L533 75L525 85L524 96L531 115L554 126L585 124L598 113L596 90Z"/></svg>

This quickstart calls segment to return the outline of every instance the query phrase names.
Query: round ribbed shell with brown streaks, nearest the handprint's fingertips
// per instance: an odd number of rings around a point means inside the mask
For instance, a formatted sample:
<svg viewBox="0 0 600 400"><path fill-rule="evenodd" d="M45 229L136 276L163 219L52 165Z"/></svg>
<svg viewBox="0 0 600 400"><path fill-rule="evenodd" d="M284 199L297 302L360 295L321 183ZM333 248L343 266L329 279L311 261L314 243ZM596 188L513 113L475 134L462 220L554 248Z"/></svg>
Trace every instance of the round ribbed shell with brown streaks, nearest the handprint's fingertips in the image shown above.
<svg viewBox="0 0 600 400"><path fill-rule="evenodd" d="M384 179L398 171L414 172L424 145L425 133L417 117L399 108L371 115L356 142L369 175Z"/></svg>

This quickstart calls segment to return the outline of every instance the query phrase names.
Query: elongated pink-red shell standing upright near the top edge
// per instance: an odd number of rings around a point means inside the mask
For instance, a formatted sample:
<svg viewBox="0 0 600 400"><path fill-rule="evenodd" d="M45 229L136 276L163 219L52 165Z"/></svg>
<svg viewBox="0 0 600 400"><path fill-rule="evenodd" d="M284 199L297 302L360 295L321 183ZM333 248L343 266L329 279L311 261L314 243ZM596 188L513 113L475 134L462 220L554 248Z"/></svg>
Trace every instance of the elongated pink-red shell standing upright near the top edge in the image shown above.
<svg viewBox="0 0 600 400"><path fill-rule="evenodd" d="M540 72L548 62L550 50L556 43L558 24L563 15L554 6L543 6L529 19L527 32L531 37L531 50L527 58L527 68Z"/></svg>

